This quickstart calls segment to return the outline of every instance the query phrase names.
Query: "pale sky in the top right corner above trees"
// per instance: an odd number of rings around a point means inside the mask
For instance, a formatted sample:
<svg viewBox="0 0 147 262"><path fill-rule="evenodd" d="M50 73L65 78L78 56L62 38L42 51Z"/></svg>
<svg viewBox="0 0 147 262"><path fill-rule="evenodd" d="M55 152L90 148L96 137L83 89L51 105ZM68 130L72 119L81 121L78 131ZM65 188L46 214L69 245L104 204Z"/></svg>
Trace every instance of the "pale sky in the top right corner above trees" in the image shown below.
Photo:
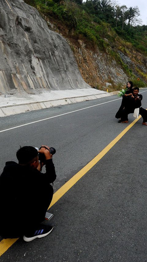
<svg viewBox="0 0 147 262"><path fill-rule="evenodd" d="M119 6L125 5L127 8L138 6L142 25L147 25L147 0L117 0Z"/></svg>

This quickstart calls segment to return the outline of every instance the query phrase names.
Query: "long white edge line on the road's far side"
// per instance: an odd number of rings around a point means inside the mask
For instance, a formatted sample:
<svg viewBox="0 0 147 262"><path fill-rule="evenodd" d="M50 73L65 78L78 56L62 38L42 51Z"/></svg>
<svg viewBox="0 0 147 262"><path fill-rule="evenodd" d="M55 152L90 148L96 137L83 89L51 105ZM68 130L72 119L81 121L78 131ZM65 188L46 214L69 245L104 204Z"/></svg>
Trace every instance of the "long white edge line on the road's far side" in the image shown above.
<svg viewBox="0 0 147 262"><path fill-rule="evenodd" d="M146 92L146 91L147 91L147 90L145 90L145 91L143 91L143 92ZM143 92L140 92L140 93L143 93ZM116 101L116 100L119 100L119 99L122 99L122 98L117 98L117 99L114 99L114 100L111 100L111 101L107 101L107 102L104 102L104 103L101 103L101 104L97 104L97 105L91 105L91 106L88 106L88 107L84 107L84 108L81 108L81 109L77 109L77 110L74 110L74 111L71 111L71 112L67 112L67 113L64 113L64 114L61 114L61 115L57 115L57 116L54 116L54 117L64 116L64 115L67 115L67 114L70 114L70 113L74 113L74 112L77 112L77 111L80 111L80 110L84 110L84 109L87 109L87 108L91 108L91 107L94 107L94 106L98 106L98 105L103 105L103 104L106 104L106 103L110 103L110 102L113 102L113 101ZM5 131L8 131L8 130L11 130L11 129L15 129L15 128L18 128L18 127L21 127L21 126L31 125L31 124L34 124L34 123L37 123L37 122L41 122L41 121L44 121L44 120L48 120L48 119L51 119L51 118L54 118L54 117L48 117L48 118L44 118L44 119L41 119L41 120L37 120L37 121L34 121L34 122L30 122L30 123L27 123L27 124L24 124L24 125L14 126L14 127L8 128L8 129L1 130L0 133L5 132Z"/></svg>

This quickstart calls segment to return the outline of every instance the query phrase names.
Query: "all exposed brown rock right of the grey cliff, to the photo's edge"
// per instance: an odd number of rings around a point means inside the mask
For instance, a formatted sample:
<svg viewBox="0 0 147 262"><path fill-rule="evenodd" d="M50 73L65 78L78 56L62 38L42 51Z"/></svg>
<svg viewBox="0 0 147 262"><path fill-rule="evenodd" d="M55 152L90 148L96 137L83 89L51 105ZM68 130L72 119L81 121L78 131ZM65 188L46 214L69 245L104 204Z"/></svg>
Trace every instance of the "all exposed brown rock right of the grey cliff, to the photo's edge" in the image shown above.
<svg viewBox="0 0 147 262"><path fill-rule="evenodd" d="M105 39L107 41L107 39ZM72 41L71 41L72 43ZM112 58L107 52L102 52L96 48L95 51L89 50L86 44L78 40L78 46L74 45L74 56L84 80L92 87L107 87L108 84L114 84L119 90L130 78L137 79L138 77L146 82L147 79L147 58L135 52L131 46L128 49L128 54L124 54L115 44L116 54L119 55L127 70L131 71L133 77L123 70L117 58ZM110 89L111 90L111 86ZM113 89L111 90L113 91Z"/></svg>

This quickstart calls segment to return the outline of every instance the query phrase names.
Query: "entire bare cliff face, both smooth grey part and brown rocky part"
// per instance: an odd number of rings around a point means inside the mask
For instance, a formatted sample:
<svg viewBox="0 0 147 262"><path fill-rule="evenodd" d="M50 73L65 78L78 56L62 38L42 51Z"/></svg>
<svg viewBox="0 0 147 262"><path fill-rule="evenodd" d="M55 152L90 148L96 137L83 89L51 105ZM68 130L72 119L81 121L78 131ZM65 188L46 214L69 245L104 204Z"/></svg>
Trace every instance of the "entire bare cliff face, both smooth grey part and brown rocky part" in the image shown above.
<svg viewBox="0 0 147 262"><path fill-rule="evenodd" d="M130 79L129 70L146 81L147 58L129 43L125 48L121 42L109 43L124 70L107 50L90 47L86 39L75 40L62 22L43 19L23 0L0 0L0 18L0 94L90 86L113 91L111 83L120 89Z"/></svg>

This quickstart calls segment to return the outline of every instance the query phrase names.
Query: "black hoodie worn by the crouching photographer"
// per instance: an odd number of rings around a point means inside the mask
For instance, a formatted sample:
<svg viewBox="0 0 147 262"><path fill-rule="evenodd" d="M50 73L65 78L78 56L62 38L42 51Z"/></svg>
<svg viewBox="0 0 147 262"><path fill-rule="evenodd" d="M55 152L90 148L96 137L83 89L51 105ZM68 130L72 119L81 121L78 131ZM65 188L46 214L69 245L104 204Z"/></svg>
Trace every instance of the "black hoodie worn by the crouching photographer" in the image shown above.
<svg viewBox="0 0 147 262"><path fill-rule="evenodd" d="M46 173L16 162L6 162L0 176L0 235L7 224L19 227L34 219L43 199L49 196L50 183L56 179L52 159L46 161ZM20 225L20 227L21 227Z"/></svg>

